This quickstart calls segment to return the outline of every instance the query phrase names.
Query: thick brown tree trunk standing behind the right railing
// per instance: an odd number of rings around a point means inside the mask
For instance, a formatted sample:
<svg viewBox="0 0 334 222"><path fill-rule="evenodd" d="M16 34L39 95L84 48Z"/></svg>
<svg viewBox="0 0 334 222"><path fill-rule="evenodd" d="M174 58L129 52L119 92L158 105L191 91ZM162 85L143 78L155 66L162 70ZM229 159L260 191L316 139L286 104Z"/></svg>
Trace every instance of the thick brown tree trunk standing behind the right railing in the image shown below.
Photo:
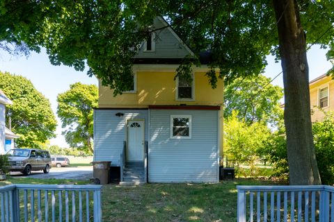
<svg viewBox="0 0 334 222"><path fill-rule="evenodd" d="M285 92L290 185L321 184L310 115L306 40L296 0L273 0Z"/></svg>

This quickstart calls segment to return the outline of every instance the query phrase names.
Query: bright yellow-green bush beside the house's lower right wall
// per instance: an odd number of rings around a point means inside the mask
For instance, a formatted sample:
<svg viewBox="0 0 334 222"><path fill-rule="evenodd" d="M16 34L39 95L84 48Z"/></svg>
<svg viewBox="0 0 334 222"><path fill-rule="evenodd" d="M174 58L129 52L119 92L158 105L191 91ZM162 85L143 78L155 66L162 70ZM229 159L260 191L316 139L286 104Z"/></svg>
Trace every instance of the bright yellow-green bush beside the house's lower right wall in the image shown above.
<svg viewBox="0 0 334 222"><path fill-rule="evenodd" d="M255 169L260 160L257 149L262 148L270 135L269 128L263 123L252 123L239 120L237 112L224 123L224 157L234 162L237 173L243 176L255 176ZM245 171L241 165L250 167Z"/></svg>

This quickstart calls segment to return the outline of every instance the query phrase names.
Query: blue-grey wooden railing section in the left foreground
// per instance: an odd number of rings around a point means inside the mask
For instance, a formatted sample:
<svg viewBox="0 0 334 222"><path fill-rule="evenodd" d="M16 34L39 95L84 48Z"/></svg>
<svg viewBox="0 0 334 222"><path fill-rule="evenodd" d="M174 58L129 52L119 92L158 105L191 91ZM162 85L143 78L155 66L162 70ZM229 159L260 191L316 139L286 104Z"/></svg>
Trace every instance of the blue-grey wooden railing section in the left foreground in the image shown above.
<svg viewBox="0 0 334 222"><path fill-rule="evenodd" d="M1 222L102 221L100 185L0 187Z"/></svg>

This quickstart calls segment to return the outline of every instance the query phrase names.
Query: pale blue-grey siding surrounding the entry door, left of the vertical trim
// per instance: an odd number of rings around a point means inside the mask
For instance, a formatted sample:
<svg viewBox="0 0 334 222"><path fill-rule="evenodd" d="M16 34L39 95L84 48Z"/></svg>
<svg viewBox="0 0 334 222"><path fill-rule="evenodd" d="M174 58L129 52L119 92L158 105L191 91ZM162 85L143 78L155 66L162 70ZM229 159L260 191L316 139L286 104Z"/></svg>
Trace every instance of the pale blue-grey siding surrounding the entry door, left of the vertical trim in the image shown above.
<svg viewBox="0 0 334 222"><path fill-rule="evenodd" d="M124 115L116 117L118 112ZM120 165L120 153L127 139L127 119L145 120L145 140L148 141L148 110L94 110L94 161Z"/></svg>

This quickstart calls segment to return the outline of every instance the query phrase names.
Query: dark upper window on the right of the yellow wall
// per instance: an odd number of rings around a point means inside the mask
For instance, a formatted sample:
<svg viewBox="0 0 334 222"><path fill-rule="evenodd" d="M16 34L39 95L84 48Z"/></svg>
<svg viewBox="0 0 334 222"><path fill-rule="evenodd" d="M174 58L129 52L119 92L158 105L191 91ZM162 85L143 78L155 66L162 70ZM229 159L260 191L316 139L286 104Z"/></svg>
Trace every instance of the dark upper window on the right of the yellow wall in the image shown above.
<svg viewBox="0 0 334 222"><path fill-rule="evenodd" d="M177 77L177 100L193 100L194 92L194 79L193 75L191 80Z"/></svg>

